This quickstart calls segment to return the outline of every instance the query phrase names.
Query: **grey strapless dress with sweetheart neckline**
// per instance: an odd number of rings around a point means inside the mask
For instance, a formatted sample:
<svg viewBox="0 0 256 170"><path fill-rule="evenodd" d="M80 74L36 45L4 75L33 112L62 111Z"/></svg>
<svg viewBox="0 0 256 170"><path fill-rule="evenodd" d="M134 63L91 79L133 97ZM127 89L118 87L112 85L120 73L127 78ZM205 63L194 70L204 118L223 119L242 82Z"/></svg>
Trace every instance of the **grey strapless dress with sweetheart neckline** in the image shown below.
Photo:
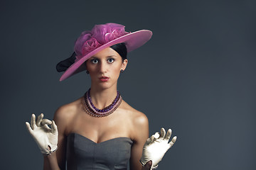
<svg viewBox="0 0 256 170"><path fill-rule="evenodd" d="M117 137L105 142L95 143L77 133L68 135L68 170L114 170L127 169L131 155L132 140Z"/></svg>

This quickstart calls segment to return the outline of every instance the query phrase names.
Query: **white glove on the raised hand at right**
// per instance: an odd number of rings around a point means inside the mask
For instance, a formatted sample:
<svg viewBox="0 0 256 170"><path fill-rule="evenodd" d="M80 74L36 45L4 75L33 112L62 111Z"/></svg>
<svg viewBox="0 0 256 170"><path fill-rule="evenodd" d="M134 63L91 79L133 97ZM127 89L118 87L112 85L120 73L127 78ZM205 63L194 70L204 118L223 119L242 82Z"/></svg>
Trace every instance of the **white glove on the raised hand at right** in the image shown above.
<svg viewBox="0 0 256 170"><path fill-rule="evenodd" d="M146 162L151 160L151 169L156 169L159 162L161 162L161 159L164 157L164 154L176 142L176 136L172 138L171 142L169 142L170 137L171 129L169 129L166 134L164 128L161 128L161 135L159 135L159 132L156 132L146 140L142 151L142 158L140 159L143 166Z"/></svg>

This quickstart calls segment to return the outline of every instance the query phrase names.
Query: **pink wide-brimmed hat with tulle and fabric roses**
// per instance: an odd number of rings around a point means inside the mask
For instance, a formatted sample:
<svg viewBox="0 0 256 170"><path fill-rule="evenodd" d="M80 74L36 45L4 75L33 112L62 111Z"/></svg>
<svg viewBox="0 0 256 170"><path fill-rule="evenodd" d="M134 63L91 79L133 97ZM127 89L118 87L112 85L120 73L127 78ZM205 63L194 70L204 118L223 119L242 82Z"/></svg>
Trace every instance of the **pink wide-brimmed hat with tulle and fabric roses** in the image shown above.
<svg viewBox="0 0 256 170"><path fill-rule="evenodd" d="M117 23L106 23L95 25L92 30L82 32L75 42L75 62L60 77L60 81L82 72L86 69L85 64L93 55L97 54L106 47L124 42L127 52L135 50L137 47L144 45L152 36L150 30L138 30L133 33L127 33L124 26Z"/></svg>

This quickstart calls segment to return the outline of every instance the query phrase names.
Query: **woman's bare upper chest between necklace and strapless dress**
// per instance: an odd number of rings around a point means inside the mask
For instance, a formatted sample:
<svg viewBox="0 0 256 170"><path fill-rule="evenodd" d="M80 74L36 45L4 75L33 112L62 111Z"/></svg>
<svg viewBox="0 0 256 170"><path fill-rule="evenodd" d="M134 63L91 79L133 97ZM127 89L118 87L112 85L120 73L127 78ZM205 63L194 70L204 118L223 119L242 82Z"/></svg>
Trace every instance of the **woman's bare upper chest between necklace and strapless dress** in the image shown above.
<svg viewBox="0 0 256 170"><path fill-rule="evenodd" d="M115 137L132 137L131 113L117 109L111 115L95 118L85 113L78 112L71 120L68 132L75 132L87 137L94 142L103 142Z"/></svg>

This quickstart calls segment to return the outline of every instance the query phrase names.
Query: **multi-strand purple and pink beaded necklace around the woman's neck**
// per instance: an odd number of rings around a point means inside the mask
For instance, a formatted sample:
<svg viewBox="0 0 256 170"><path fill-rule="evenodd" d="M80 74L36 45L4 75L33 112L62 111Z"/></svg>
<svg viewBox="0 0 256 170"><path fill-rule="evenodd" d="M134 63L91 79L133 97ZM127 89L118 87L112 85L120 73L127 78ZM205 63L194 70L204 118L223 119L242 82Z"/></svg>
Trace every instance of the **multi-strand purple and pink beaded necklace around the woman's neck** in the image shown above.
<svg viewBox="0 0 256 170"><path fill-rule="evenodd" d="M102 109L98 109L93 105L92 99L90 98L90 89L85 93L85 96L82 98L82 105L85 112L97 118L110 115L118 108L121 102L122 97L119 91L117 91L117 96L114 98L114 101L111 103L111 105Z"/></svg>

